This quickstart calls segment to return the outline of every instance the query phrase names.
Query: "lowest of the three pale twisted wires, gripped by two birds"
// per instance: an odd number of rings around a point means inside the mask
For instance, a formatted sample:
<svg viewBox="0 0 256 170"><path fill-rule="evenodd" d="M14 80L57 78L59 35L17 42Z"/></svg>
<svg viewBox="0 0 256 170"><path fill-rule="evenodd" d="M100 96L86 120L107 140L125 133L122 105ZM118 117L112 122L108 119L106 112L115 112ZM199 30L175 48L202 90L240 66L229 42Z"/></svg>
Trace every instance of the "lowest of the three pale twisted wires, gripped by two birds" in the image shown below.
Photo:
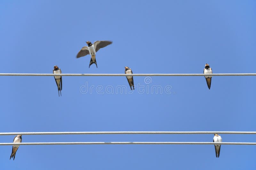
<svg viewBox="0 0 256 170"><path fill-rule="evenodd" d="M15 145L256 145L248 142L32 142L15 143ZM13 145L13 143L0 143Z"/></svg>

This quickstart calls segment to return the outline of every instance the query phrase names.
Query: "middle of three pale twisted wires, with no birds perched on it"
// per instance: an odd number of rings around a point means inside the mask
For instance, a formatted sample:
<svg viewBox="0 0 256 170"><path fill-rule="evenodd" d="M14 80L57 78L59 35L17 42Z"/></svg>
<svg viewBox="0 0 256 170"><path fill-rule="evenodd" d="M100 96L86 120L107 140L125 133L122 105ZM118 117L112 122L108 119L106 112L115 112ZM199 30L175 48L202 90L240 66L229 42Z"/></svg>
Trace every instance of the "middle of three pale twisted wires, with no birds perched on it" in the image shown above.
<svg viewBox="0 0 256 170"><path fill-rule="evenodd" d="M102 135L102 134L256 134L256 131L94 131L94 132L4 132L0 135Z"/></svg>

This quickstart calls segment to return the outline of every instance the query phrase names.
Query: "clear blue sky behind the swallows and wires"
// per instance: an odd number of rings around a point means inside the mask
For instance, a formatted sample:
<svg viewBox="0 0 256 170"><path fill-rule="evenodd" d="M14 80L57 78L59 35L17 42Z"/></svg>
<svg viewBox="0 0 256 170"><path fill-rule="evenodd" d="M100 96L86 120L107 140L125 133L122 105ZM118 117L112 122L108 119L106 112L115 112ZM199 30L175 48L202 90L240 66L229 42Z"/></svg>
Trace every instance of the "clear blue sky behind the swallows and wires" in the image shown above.
<svg viewBox="0 0 256 170"><path fill-rule="evenodd" d="M248 1L0 1L1 73L255 73L256 2ZM112 40L98 68L76 59L85 41ZM1 78L1 132L256 131L255 77L134 77L133 94L115 90L125 77ZM99 94L80 87L103 87ZM140 94L138 83L172 87ZM106 88L114 88L114 94ZM129 90L130 91L130 90ZM254 135L220 134L223 142ZM40 135L22 142L197 141L211 135ZM12 142L13 136L0 136ZM255 169L255 146L42 145L0 146L0 169Z"/></svg>

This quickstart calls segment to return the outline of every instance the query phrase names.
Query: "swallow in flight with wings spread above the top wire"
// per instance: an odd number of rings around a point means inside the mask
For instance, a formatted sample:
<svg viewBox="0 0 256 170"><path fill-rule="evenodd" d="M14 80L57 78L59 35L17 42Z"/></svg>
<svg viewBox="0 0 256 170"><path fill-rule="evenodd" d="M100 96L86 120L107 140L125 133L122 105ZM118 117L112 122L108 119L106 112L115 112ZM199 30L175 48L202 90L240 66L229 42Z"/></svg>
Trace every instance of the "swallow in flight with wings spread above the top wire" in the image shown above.
<svg viewBox="0 0 256 170"><path fill-rule="evenodd" d="M112 44L112 41L95 41L93 44L91 43L91 41L86 41L86 44L88 46L84 46L78 52L78 54L76 55L76 58L83 57L87 54L90 54L91 55L91 61L90 61L90 64L89 64L89 68L93 63L95 63L96 67L98 68L96 58L95 58L96 52L99 51L100 48L103 48L105 46L108 46L109 44Z"/></svg>

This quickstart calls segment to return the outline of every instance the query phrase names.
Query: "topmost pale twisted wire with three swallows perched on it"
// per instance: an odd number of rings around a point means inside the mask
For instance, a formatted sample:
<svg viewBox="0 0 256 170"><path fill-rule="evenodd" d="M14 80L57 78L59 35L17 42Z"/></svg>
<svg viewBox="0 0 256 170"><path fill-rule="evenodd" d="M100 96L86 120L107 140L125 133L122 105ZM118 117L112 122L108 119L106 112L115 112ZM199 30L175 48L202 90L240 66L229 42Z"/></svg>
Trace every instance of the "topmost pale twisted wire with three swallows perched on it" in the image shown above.
<svg viewBox="0 0 256 170"><path fill-rule="evenodd" d="M0 73L0 76L256 76L256 73L225 73L225 74L30 74Z"/></svg>

